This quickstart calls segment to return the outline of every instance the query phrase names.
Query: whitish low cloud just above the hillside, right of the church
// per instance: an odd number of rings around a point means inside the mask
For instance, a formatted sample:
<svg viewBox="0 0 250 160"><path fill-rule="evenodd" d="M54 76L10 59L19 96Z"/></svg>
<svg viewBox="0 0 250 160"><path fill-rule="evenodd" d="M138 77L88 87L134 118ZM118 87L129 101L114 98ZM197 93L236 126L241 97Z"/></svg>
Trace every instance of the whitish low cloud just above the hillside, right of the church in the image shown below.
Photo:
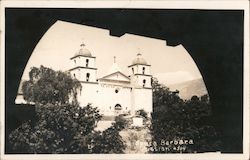
<svg viewBox="0 0 250 160"><path fill-rule="evenodd" d="M192 76L192 74L187 71L156 73L155 77L160 83L163 83L165 85L178 84L185 81L197 79L197 77Z"/></svg>

